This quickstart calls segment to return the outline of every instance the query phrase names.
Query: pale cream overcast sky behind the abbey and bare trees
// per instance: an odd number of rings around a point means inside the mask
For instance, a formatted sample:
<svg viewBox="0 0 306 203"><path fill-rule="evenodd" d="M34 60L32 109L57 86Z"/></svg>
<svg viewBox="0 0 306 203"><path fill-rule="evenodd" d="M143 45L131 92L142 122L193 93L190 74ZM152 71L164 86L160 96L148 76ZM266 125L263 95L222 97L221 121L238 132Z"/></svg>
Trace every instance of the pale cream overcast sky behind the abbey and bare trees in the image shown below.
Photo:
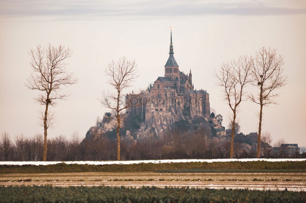
<svg viewBox="0 0 306 203"><path fill-rule="evenodd" d="M191 68L194 87L207 90L224 126L229 108L215 86L214 69L263 45L278 48L288 84L280 90L279 105L264 108L263 130L274 140L306 145L305 0L63 2L0 1L0 133L12 138L43 133L37 124L41 106L32 100L38 92L24 86L31 71L30 48L50 43L73 50L68 70L79 83L64 89L72 95L53 108L58 123L48 136L70 137L75 130L85 136L107 111L97 98L108 88L103 72L108 62L123 55L135 59L140 77L133 86L145 89L164 74L171 26L179 69L186 73ZM242 103L238 117L244 134L258 131L258 111L259 105Z"/></svg>

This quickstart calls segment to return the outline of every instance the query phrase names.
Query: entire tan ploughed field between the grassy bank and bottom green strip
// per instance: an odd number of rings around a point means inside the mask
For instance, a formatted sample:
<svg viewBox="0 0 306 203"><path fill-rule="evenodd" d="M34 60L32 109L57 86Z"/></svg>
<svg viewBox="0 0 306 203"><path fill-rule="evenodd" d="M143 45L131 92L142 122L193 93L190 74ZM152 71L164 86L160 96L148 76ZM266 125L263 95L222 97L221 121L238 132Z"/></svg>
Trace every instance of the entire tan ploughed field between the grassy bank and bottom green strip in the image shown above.
<svg viewBox="0 0 306 203"><path fill-rule="evenodd" d="M1 174L0 186L196 187L306 191L305 173L17 173Z"/></svg>

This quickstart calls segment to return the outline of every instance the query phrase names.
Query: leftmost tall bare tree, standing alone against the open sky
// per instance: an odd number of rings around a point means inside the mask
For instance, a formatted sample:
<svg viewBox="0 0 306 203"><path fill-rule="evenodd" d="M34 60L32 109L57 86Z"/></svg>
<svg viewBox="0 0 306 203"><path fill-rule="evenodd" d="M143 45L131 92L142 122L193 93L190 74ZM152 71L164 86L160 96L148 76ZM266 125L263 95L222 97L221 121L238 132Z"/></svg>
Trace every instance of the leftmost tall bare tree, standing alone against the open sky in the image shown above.
<svg viewBox="0 0 306 203"><path fill-rule="evenodd" d="M41 112L41 125L44 128L43 161L47 161L47 129L54 124L54 113L50 112L49 105L55 106L57 100L65 100L69 96L61 93L63 87L77 83L73 73L66 71L65 59L72 55L69 48L60 45L48 45L42 48L30 49L32 73L27 79L26 87L30 90L39 90L40 94L34 98L35 102L45 107Z"/></svg>

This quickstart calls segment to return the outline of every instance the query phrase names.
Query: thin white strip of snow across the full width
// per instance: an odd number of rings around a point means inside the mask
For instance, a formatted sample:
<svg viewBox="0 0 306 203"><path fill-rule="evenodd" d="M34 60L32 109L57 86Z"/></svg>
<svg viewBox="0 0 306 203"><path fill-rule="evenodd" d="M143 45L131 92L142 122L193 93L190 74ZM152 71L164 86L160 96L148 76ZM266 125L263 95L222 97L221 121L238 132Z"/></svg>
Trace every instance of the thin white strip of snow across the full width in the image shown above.
<svg viewBox="0 0 306 203"><path fill-rule="evenodd" d="M88 164L88 165L106 165L106 164L139 164L139 163L186 163L186 162L249 162L249 161L267 161L267 162L286 162L286 161L306 161L306 158L224 158L224 159L162 159L162 160L133 160L133 161L65 161L65 162L0 162L0 165L50 165L58 163L66 164Z"/></svg>

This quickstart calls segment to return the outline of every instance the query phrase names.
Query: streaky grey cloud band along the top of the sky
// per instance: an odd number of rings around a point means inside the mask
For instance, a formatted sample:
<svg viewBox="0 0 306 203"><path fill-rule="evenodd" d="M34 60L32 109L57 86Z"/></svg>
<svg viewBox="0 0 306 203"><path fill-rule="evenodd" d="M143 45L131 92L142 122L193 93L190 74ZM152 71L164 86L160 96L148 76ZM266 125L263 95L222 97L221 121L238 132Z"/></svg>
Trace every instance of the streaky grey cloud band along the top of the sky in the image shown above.
<svg viewBox="0 0 306 203"><path fill-rule="evenodd" d="M71 17L171 17L206 15L292 15L306 13L303 1L268 5L259 1L41 1L3 0L0 2L0 17L47 16L60 19Z"/></svg>

